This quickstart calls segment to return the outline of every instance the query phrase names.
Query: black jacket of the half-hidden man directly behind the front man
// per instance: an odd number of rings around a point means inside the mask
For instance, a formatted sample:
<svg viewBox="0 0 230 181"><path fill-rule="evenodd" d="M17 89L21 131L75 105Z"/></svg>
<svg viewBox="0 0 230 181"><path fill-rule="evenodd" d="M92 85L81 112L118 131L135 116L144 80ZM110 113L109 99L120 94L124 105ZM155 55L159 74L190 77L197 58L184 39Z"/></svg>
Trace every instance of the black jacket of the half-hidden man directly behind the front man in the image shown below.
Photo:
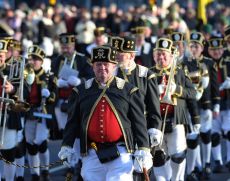
<svg viewBox="0 0 230 181"><path fill-rule="evenodd" d="M116 76L139 88L140 93L144 96L148 129L160 129L162 121L156 75L147 67L137 64L134 65L135 66L126 73L122 68L118 68Z"/></svg>

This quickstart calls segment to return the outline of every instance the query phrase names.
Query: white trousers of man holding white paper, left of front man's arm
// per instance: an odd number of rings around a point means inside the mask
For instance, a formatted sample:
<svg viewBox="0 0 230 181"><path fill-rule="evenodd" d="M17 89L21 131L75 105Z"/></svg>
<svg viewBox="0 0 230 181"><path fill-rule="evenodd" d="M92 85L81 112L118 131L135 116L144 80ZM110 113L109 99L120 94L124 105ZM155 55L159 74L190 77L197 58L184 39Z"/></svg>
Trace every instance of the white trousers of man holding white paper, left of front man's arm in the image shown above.
<svg viewBox="0 0 230 181"><path fill-rule="evenodd" d="M67 122L67 113L61 111L61 104L64 102L64 99L60 99L57 102L57 106L54 108L57 123L58 123L58 129L64 129L66 122Z"/></svg>

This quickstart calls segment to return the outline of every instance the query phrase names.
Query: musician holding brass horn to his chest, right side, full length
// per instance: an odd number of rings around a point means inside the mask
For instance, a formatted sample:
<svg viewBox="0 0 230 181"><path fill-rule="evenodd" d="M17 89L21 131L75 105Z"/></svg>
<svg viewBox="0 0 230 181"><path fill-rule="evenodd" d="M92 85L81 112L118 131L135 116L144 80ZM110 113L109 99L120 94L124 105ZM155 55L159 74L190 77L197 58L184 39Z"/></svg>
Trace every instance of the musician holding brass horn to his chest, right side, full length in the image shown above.
<svg viewBox="0 0 230 181"><path fill-rule="evenodd" d="M218 115L220 107L217 66L213 60L203 56L204 36L200 32L190 34L189 50L192 58L185 61L184 64L193 84L197 84L196 99L199 100L200 109L203 176L204 178L209 178L211 174L212 117ZM198 167L201 167L201 165L198 165Z"/></svg>

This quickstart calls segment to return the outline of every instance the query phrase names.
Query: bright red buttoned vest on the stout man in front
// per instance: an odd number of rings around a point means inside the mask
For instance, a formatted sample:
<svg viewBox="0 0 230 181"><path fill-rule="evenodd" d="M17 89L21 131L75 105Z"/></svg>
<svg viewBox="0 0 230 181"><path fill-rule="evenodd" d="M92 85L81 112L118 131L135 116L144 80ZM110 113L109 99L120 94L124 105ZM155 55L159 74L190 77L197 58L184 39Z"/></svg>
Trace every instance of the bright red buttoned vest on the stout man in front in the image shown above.
<svg viewBox="0 0 230 181"><path fill-rule="evenodd" d="M90 118L88 138L98 143L117 142L123 138L118 120L104 97L98 102Z"/></svg>

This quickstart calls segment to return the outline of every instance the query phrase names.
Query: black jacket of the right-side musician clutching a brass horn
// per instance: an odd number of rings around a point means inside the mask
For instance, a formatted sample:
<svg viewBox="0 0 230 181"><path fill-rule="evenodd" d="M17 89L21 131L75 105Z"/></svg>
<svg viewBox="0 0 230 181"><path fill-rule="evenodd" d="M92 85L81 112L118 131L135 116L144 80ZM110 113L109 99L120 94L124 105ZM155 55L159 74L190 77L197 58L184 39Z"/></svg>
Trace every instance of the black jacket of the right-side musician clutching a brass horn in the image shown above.
<svg viewBox="0 0 230 181"><path fill-rule="evenodd" d="M203 56L199 60L185 62L189 72L197 70L201 63L204 63L207 66L210 80L208 87L204 89L203 95L199 101L199 105L202 109L212 109L213 105L220 103L216 63L212 59Z"/></svg>

